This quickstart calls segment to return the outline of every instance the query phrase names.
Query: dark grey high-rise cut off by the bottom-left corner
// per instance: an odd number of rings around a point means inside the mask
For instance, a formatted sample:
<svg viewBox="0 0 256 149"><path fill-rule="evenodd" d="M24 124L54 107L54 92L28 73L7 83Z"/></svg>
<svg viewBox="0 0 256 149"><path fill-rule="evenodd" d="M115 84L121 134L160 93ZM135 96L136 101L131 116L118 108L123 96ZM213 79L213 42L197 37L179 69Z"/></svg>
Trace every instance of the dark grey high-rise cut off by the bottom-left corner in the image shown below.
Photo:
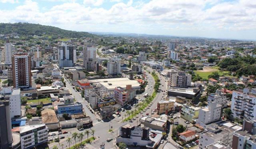
<svg viewBox="0 0 256 149"><path fill-rule="evenodd" d="M9 101L0 101L0 113L0 148L12 148L12 122Z"/></svg>

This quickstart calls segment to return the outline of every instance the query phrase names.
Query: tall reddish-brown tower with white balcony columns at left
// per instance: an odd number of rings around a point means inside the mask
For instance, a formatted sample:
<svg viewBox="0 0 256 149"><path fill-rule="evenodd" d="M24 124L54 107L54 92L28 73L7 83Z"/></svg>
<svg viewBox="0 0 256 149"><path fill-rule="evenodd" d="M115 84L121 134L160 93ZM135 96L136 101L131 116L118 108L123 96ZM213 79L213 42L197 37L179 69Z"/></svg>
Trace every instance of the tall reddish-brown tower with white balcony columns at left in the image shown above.
<svg viewBox="0 0 256 149"><path fill-rule="evenodd" d="M31 87L31 57L29 54L12 56L12 77L14 88Z"/></svg>

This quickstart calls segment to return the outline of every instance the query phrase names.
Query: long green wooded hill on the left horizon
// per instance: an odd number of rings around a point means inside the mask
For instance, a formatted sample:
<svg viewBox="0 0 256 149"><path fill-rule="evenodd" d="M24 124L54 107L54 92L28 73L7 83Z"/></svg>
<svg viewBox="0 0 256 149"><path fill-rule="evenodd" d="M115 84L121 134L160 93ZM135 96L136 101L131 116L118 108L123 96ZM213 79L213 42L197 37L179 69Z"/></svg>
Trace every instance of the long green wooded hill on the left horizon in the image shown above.
<svg viewBox="0 0 256 149"><path fill-rule="evenodd" d="M53 38L57 37L93 37L95 35L87 32L67 31L58 27L51 27L41 24L31 23L0 23L0 34L18 33L18 35L49 35Z"/></svg>

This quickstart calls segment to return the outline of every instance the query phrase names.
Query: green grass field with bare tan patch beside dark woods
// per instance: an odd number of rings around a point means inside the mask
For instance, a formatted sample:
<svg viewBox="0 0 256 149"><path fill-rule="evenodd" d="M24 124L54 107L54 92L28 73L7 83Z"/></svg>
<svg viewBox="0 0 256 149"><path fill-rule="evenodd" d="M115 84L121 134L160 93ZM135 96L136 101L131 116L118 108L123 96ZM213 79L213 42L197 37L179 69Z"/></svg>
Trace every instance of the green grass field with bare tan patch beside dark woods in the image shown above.
<svg viewBox="0 0 256 149"><path fill-rule="evenodd" d="M208 79L208 76L212 74L214 71L217 71L219 73L219 76L229 76L229 71L220 71L218 66L206 67L204 68L204 70L197 70L194 72L203 79Z"/></svg>

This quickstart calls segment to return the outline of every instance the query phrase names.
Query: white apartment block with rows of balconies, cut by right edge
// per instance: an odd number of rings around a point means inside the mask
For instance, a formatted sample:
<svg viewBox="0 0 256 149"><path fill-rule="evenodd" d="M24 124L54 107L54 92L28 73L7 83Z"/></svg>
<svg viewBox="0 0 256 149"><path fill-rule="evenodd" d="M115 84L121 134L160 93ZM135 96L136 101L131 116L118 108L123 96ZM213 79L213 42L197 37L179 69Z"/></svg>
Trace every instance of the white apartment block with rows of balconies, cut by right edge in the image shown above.
<svg viewBox="0 0 256 149"><path fill-rule="evenodd" d="M256 120L256 96L250 92L249 88L233 91L231 111L234 118Z"/></svg>

